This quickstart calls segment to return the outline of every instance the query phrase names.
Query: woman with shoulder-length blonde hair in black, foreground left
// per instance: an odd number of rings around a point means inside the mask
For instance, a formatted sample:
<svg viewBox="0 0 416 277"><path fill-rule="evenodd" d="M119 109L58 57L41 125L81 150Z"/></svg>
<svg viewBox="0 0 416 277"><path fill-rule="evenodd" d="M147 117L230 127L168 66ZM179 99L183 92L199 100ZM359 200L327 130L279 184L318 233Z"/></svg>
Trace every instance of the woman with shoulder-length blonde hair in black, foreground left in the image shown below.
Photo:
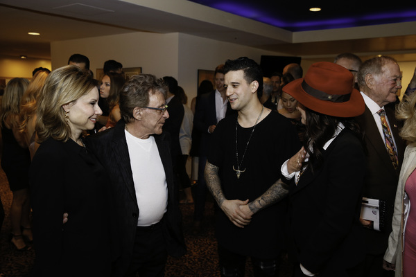
<svg viewBox="0 0 416 277"><path fill-rule="evenodd" d="M108 177L83 143L101 114L98 98L97 81L69 65L49 74L37 102L30 181L39 276L110 276Z"/></svg>

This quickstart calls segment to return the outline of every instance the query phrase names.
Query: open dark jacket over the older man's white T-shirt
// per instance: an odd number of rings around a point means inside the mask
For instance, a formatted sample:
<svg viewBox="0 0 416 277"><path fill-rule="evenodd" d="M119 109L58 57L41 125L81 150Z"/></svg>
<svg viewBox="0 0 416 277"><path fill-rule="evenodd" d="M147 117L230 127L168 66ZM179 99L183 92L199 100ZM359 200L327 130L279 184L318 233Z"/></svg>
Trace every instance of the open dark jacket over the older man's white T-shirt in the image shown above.
<svg viewBox="0 0 416 277"><path fill-rule="evenodd" d="M125 123L119 120L115 127L88 136L87 145L96 154L108 172L111 191L119 218L121 258L116 263L115 276L123 276L130 265L135 242L139 207L130 166ZM168 206L162 219L166 249L171 256L182 256L185 251L182 233L182 215L179 209L178 188L173 182L173 170L168 134L155 135L155 141L164 166L168 185Z"/></svg>

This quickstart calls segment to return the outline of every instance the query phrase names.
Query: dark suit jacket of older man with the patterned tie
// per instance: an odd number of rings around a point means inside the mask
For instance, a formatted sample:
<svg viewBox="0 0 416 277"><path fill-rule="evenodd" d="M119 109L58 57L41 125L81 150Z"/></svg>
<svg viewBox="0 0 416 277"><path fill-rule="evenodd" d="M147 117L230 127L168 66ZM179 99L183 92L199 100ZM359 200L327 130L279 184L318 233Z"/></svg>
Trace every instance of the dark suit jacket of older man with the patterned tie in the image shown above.
<svg viewBox="0 0 416 277"><path fill-rule="evenodd" d="M399 136L400 122L395 118L395 111L385 106L385 114L388 117L390 129L397 146L399 158L399 168L397 170L392 166L385 143L380 136L370 109L365 107L364 114L356 118L361 130L364 132L365 143L366 176L363 197L382 199L386 202L385 228L382 231L370 229L365 229L364 231L367 253L374 255L384 253L388 247L388 236L392 231L397 182L399 181L399 172L405 149L404 141Z"/></svg>

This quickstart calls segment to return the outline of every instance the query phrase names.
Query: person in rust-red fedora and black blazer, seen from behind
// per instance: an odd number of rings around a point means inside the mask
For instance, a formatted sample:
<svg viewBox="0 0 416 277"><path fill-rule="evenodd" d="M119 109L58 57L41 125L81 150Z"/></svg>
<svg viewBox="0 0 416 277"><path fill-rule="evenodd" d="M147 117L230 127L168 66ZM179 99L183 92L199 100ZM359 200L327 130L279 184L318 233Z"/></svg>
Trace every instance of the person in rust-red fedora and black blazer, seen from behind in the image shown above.
<svg viewBox="0 0 416 277"><path fill-rule="evenodd" d="M343 66L317 62L283 88L299 103L304 147L281 167L289 185L295 276L358 276L365 154L354 117L365 103Z"/></svg>

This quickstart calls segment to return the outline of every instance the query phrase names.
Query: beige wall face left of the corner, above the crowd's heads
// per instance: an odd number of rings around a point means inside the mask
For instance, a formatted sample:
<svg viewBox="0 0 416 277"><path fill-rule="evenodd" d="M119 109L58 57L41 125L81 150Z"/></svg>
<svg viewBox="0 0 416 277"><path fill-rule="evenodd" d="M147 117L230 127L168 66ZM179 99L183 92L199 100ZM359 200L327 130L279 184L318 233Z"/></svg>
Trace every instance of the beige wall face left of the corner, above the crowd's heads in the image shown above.
<svg viewBox="0 0 416 277"><path fill-rule="evenodd" d="M106 60L116 60L123 67L141 67L144 73L177 78L177 47L177 33L128 33L52 42L51 58L53 69L67 64L72 54L80 53L89 58L94 75Z"/></svg>

